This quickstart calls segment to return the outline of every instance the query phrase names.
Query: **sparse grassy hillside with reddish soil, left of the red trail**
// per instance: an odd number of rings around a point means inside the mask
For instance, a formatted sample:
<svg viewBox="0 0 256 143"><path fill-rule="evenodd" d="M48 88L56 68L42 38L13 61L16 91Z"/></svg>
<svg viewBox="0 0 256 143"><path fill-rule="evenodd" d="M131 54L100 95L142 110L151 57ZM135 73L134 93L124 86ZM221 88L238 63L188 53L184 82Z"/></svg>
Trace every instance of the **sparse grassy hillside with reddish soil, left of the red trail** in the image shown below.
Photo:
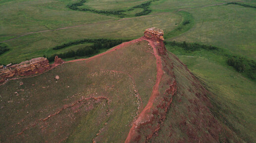
<svg viewBox="0 0 256 143"><path fill-rule="evenodd" d="M124 141L129 124L138 109L146 105L155 83L156 64L152 64L155 57L151 52L146 41L129 44L96 60L66 63L0 86L0 140L57 142L70 137L68 142L91 142L97 137L98 142ZM59 80L54 79L56 75ZM107 101L82 100L89 97L106 97ZM73 103L78 105L67 107ZM39 120L62 107L67 108L45 121ZM96 136L101 129L108 132Z"/></svg>

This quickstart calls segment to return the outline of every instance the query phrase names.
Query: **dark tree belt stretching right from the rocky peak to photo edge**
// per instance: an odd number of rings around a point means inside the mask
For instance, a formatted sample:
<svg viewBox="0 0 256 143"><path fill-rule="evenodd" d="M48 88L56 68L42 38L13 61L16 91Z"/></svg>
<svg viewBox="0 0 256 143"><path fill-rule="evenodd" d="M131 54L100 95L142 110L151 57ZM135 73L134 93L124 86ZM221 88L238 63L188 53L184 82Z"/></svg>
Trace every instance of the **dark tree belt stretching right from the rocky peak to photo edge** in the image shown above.
<svg viewBox="0 0 256 143"><path fill-rule="evenodd" d="M183 48L186 51L196 51L196 50L207 50L207 51L215 51L215 53L222 54L223 50L221 48L212 46L212 45L204 45L199 43L187 43L184 42L166 42L165 44L170 44L171 46L178 46ZM227 59L227 64L232 66L236 71L243 72L247 77L255 80L256 79L256 62L254 60L249 60L245 57L241 56L233 56L231 54L222 54Z"/></svg>

